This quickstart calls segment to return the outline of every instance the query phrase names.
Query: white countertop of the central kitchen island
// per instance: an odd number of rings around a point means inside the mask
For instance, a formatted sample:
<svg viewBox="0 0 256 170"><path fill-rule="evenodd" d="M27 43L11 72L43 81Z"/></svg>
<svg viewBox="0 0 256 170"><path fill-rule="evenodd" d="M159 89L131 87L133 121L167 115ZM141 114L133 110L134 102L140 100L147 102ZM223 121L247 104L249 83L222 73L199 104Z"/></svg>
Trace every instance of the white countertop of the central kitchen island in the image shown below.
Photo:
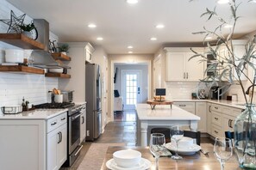
<svg viewBox="0 0 256 170"><path fill-rule="evenodd" d="M178 106L158 105L151 109L150 105L137 104L136 111L139 120L200 120L195 114L187 112Z"/></svg>

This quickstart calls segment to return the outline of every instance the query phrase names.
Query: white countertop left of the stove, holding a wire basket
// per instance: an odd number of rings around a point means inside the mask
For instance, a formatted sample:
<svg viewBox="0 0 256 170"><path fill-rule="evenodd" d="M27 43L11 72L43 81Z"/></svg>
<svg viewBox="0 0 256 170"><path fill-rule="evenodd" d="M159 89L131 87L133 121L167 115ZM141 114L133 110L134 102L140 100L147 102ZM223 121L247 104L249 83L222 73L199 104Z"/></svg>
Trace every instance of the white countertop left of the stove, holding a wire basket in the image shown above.
<svg viewBox="0 0 256 170"><path fill-rule="evenodd" d="M35 109L17 114L0 114L0 119L48 119L67 111L68 109Z"/></svg>

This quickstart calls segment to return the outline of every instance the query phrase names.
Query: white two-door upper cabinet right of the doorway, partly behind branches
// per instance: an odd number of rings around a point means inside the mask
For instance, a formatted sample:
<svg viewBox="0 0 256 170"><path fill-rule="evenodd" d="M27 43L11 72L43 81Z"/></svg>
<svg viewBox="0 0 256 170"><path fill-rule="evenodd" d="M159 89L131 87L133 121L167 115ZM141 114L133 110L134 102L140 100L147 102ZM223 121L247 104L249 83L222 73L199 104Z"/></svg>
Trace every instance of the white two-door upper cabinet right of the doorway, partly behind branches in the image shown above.
<svg viewBox="0 0 256 170"><path fill-rule="evenodd" d="M203 52L203 48L195 48ZM203 79L204 63L201 58L189 58L194 55L190 48L165 47L166 73L165 81L198 81Z"/></svg>

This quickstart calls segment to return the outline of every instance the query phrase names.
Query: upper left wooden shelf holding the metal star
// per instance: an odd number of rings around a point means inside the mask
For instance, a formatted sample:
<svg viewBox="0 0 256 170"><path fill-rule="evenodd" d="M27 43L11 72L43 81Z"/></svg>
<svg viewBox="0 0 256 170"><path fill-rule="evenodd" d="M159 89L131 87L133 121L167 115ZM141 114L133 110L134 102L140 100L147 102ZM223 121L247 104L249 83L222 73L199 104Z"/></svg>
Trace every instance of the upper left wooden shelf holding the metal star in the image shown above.
<svg viewBox="0 0 256 170"><path fill-rule="evenodd" d="M22 33L0 33L0 40L22 49L44 50L45 46Z"/></svg>

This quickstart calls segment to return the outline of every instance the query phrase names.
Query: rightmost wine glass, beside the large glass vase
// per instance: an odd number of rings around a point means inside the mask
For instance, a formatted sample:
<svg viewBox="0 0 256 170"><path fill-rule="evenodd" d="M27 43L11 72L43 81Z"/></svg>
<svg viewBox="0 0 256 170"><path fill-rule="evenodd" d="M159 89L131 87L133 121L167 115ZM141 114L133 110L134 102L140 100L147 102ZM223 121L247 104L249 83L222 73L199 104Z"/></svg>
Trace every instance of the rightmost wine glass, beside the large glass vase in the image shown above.
<svg viewBox="0 0 256 170"><path fill-rule="evenodd" d="M224 170L225 161L233 155L233 147L231 139L225 137L216 137L214 145L214 153L220 161L222 170Z"/></svg>

